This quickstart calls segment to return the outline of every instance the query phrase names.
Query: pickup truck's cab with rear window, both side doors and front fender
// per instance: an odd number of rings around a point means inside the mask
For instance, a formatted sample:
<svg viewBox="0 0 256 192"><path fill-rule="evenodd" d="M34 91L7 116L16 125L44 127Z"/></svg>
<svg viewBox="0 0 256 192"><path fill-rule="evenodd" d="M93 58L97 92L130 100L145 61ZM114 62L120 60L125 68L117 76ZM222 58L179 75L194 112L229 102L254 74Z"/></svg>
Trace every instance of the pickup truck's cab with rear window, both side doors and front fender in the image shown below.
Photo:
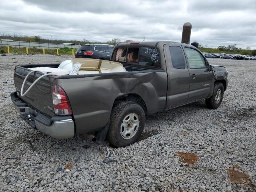
<svg viewBox="0 0 256 192"><path fill-rule="evenodd" d="M214 82L220 80L226 90L227 70L220 66L215 79L213 66L194 46L177 42L118 43L112 61L134 68L166 71L166 109L182 106L212 95ZM222 72L220 72L222 71ZM221 74L220 74L221 73Z"/></svg>

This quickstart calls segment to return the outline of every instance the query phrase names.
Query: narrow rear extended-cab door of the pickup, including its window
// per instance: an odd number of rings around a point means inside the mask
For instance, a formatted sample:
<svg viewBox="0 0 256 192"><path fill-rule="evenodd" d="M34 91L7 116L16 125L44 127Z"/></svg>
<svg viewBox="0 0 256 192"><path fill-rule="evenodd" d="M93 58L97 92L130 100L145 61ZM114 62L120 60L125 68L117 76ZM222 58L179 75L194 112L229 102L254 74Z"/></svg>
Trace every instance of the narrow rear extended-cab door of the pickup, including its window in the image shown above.
<svg viewBox="0 0 256 192"><path fill-rule="evenodd" d="M187 103L190 75L181 46L165 45L164 52L168 74L166 108L170 109Z"/></svg>

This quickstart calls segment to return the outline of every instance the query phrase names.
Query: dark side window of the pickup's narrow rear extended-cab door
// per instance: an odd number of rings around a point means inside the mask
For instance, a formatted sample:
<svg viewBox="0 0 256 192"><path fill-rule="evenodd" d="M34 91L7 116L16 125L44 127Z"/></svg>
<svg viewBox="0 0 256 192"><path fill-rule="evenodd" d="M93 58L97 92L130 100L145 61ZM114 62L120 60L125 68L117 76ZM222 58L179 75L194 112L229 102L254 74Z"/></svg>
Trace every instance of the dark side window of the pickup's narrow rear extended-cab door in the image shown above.
<svg viewBox="0 0 256 192"><path fill-rule="evenodd" d="M184 53L179 46L170 46L172 66L176 69L185 69Z"/></svg>

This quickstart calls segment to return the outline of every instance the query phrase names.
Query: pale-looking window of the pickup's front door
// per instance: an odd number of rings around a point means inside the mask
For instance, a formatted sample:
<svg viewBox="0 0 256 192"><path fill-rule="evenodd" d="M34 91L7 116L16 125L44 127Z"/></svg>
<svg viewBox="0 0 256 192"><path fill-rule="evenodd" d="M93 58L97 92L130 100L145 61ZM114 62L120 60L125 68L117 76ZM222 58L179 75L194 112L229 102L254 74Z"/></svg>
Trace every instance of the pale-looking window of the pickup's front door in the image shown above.
<svg viewBox="0 0 256 192"><path fill-rule="evenodd" d="M203 56L196 50L191 48L185 48L188 58L188 65L192 68L205 68L206 64Z"/></svg>

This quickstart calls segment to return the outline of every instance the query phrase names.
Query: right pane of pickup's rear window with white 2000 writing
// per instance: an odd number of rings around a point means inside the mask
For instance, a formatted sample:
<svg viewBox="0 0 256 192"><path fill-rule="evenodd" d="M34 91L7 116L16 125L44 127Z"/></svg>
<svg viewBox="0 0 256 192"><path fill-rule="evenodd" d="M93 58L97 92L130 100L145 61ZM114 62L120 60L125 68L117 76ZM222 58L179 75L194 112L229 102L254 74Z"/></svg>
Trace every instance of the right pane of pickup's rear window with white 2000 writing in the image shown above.
<svg viewBox="0 0 256 192"><path fill-rule="evenodd" d="M139 65L159 68L161 64L158 49L151 47L140 47Z"/></svg>

